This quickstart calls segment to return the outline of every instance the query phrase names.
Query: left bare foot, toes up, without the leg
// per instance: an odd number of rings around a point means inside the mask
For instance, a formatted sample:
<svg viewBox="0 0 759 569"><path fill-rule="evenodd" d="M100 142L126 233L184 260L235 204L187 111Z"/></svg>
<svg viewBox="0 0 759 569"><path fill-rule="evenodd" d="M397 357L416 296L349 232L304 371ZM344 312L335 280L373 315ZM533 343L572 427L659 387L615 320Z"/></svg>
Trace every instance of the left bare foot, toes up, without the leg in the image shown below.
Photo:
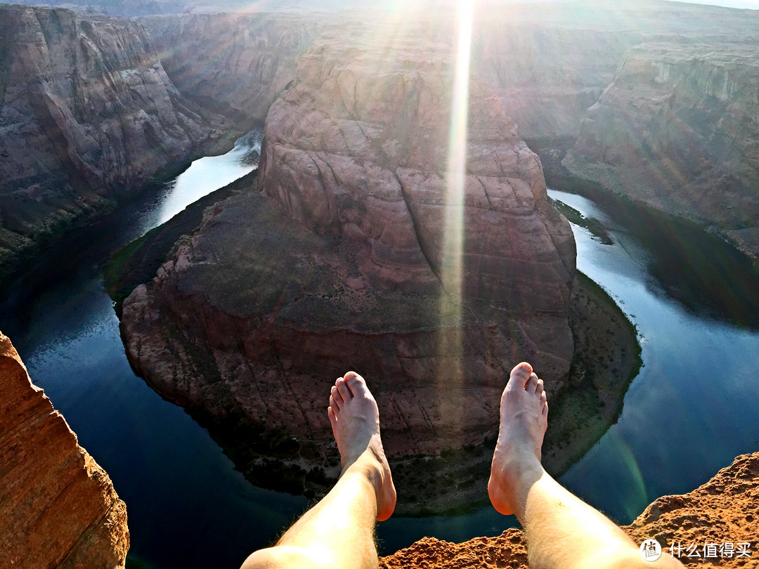
<svg viewBox="0 0 759 569"><path fill-rule="evenodd" d="M379 410L364 378L355 372L338 378L327 413L340 451L340 476L354 464L366 469L376 492L377 521L386 520L395 510L395 486L379 438Z"/></svg>

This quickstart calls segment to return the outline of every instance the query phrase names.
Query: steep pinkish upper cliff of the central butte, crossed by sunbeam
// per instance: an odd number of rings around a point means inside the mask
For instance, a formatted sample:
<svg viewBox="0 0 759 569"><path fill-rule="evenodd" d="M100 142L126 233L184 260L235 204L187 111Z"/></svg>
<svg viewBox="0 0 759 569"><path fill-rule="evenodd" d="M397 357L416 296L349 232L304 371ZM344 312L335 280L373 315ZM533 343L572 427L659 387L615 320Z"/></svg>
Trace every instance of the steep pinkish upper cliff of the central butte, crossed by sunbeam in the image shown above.
<svg viewBox="0 0 759 569"><path fill-rule="evenodd" d="M565 313L574 239L547 203L540 160L472 78L463 195L447 196L453 55L420 40L394 46L405 61L328 38L301 59L266 120L263 193L311 231L364 244L362 278L405 292L455 292L443 253L455 231L446 219L459 217L465 297Z"/></svg>

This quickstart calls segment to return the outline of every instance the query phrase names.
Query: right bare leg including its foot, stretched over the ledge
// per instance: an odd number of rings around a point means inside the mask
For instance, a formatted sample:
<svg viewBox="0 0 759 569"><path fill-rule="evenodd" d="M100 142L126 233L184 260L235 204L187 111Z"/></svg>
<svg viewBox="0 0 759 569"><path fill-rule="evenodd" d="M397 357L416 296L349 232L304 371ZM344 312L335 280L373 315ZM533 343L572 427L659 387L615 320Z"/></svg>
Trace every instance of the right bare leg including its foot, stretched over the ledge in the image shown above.
<svg viewBox="0 0 759 569"><path fill-rule="evenodd" d="M645 561L609 518L559 485L540 464L548 426L543 380L529 363L512 369L501 396L500 430L487 489L501 514L516 514L530 567L682 567L664 553Z"/></svg>

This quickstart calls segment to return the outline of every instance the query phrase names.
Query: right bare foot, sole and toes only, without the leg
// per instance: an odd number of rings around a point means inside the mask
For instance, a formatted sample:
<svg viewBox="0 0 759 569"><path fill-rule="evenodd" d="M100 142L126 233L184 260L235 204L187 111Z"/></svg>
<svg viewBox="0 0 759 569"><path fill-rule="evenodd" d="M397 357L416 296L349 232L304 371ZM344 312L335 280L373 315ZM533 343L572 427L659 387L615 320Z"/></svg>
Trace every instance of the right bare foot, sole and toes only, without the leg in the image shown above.
<svg viewBox="0 0 759 569"><path fill-rule="evenodd" d="M501 395L501 424L487 493L501 514L518 513L516 488L524 476L539 476L540 447L548 426L543 380L527 362L518 363Z"/></svg>

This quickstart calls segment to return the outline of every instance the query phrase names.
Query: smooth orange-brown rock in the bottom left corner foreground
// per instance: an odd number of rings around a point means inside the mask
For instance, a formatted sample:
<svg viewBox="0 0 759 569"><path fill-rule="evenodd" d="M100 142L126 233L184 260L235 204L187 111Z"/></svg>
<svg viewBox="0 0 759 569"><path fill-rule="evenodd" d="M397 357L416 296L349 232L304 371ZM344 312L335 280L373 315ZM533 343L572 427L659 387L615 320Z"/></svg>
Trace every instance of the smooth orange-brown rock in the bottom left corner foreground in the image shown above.
<svg viewBox="0 0 759 569"><path fill-rule="evenodd" d="M124 567L124 502L2 333L0 464L0 566Z"/></svg>

